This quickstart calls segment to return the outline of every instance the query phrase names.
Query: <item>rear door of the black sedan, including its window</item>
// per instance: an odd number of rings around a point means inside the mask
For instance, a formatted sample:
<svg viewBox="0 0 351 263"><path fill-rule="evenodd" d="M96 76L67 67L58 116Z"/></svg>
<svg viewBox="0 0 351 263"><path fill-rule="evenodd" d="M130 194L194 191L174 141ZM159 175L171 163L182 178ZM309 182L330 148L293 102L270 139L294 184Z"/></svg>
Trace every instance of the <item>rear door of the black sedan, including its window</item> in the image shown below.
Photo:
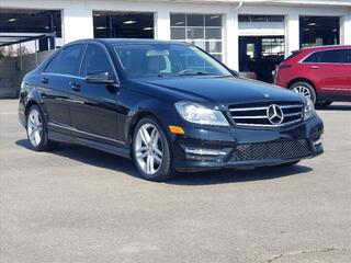
<svg viewBox="0 0 351 263"><path fill-rule="evenodd" d="M82 44L67 46L54 56L42 72L39 93L52 129L64 132L70 126L68 88L70 75L78 69L82 47Z"/></svg>

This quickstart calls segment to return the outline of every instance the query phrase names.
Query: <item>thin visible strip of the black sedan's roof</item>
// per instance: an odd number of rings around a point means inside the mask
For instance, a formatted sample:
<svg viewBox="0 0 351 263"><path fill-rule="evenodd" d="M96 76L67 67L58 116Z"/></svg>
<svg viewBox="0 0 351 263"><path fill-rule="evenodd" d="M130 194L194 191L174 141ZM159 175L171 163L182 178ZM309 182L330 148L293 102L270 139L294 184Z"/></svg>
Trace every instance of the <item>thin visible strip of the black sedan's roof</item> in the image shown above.
<svg viewBox="0 0 351 263"><path fill-rule="evenodd" d="M68 43L65 46L79 43L101 43L103 45L116 45L116 44L174 44L174 45L190 45L184 42L177 41L157 41L157 39L138 39L138 38L90 38L90 39L80 39L76 42ZM65 47L64 46L64 47Z"/></svg>

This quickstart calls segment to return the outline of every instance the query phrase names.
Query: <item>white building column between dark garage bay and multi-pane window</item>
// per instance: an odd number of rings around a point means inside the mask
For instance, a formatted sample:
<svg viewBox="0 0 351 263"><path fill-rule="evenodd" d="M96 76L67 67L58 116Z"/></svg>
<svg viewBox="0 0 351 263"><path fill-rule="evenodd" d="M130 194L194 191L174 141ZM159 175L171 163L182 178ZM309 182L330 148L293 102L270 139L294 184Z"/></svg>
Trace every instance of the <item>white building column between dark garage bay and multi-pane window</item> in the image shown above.
<svg viewBox="0 0 351 263"><path fill-rule="evenodd" d="M170 12L167 10L159 10L155 13L155 38L161 41L169 41L171 38L171 19Z"/></svg>

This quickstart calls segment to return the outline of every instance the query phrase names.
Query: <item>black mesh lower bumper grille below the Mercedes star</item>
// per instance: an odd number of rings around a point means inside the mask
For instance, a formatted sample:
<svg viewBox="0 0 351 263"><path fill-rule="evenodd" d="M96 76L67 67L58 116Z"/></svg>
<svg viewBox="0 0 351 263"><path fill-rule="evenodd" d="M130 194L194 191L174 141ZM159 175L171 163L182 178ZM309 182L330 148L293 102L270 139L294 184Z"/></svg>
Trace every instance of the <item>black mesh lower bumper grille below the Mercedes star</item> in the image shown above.
<svg viewBox="0 0 351 263"><path fill-rule="evenodd" d="M286 140L238 145L229 161L284 160L306 157L310 153L306 140Z"/></svg>

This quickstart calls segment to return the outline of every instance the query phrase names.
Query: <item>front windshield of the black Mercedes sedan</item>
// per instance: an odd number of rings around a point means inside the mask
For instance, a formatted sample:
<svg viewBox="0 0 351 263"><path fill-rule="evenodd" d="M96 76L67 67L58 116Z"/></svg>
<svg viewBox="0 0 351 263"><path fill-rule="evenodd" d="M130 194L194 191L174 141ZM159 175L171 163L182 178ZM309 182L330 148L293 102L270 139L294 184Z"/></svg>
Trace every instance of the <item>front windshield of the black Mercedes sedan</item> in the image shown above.
<svg viewBox="0 0 351 263"><path fill-rule="evenodd" d="M231 76L211 56L190 45L128 44L114 47L128 78Z"/></svg>

